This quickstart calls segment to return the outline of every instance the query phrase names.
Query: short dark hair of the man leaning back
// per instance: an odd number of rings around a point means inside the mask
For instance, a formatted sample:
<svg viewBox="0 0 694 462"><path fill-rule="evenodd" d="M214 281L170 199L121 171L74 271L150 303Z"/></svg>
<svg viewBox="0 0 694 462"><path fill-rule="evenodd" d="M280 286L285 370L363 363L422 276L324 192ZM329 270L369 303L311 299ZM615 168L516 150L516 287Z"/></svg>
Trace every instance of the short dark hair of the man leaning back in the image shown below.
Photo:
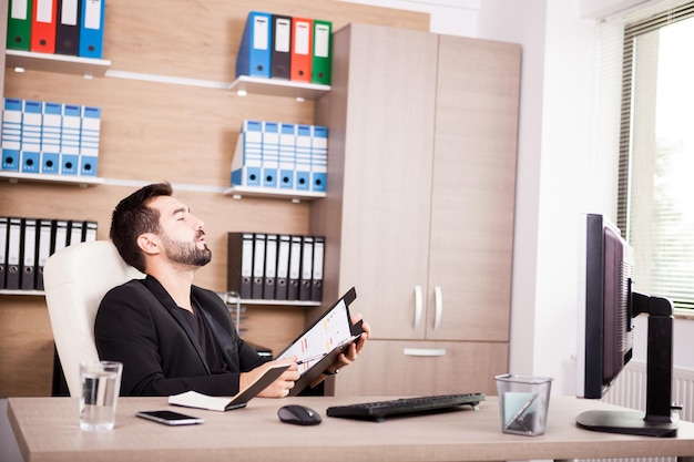
<svg viewBox="0 0 694 462"><path fill-rule="evenodd" d="M137 237L144 233L159 232L159 211L147 206L159 196L171 196L169 183L155 183L135 191L115 206L111 216L110 237L123 260L144 273L144 255L137 246Z"/></svg>

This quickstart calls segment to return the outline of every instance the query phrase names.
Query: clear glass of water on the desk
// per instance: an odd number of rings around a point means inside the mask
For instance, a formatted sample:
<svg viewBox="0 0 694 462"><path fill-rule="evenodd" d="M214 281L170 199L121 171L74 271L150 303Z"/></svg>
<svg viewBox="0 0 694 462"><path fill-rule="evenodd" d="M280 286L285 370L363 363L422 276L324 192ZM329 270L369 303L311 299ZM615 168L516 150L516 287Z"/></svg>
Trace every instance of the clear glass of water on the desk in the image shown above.
<svg viewBox="0 0 694 462"><path fill-rule="evenodd" d="M116 361L80 363L80 378L82 380L80 428L82 430L113 430L122 372L123 365Z"/></svg>

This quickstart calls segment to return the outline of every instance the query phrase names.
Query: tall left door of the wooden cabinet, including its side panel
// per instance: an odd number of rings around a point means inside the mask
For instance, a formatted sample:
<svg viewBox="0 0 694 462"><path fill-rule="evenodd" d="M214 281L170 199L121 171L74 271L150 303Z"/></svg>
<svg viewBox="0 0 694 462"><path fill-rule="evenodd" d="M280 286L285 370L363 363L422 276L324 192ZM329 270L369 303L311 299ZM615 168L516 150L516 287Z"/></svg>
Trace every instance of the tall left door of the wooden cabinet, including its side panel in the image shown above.
<svg viewBox="0 0 694 462"><path fill-rule="evenodd" d="M355 309L375 338L423 338L423 315L415 326L415 287L426 294L437 38L350 24L336 34L334 50L326 111L341 103L346 120L330 126L328 156L344 150L341 177L335 179L344 186L339 204L331 203L329 189L317 207L324 215L341 207L340 290L356 286Z"/></svg>

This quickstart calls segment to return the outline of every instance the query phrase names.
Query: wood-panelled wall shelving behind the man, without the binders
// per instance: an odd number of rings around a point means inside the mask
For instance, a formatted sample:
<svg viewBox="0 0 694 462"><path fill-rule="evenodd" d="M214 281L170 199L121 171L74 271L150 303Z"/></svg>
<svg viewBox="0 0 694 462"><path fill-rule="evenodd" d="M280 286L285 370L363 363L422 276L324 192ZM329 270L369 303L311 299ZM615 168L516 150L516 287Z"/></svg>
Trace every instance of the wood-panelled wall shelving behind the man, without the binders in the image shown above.
<svg viewBox="0 0 694 462"><path fill-rule="evenodd" d="M0 17L7 18L7 7L8 2L0 2ZM185 185L176 194L204 218L214 249L213 260L198 271L195 284L218 291L226 288L228 232L309 234L310 204L319 201L268 201L248 192L243 192L242 201L229 201L233 194L222 194L229 185L244 119L313 124L316 101L331 90L287 82L236 82L236 52L251 10L289 16L300 11L333 20L335 30L350 22L429 28L427 13L333 0L210 0L204 8L191 0L119 0L108 6L108 60L103 62L24 57L4 50L2 40L3 96L102 107L99 181L105 178L98 187L91 183L65 187L69 183L0 177L3 215L90 218L99 223L98 239L108 239L113 207L136 187L159 181ZM4 38L6 24L0 22ZM191 30L196 31L195 40ZM16 68L24 72L14 72ZM211 88L207 82L223 85ZM244 85L247 96L241 97L237 90ZM248 304L245 336L279 351L304 330L306 309L262 304ZM0 397L50 394L53 343L43 297L0 292ZM18 382L16 378L25 376L27 368L47 372Z"/></svg>

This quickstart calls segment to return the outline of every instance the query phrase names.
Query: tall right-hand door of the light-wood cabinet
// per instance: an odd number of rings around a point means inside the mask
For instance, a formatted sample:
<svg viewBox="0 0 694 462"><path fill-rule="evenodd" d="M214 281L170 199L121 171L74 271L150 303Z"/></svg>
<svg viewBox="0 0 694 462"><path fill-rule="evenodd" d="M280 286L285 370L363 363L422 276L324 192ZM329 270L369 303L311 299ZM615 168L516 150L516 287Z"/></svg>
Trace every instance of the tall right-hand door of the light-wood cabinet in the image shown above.
<svg viewBox="0 0 694 462"><path fill-rule="evenodd" d="M507 341L520 47L440 35L438 69L427 338Z"/></svg>

